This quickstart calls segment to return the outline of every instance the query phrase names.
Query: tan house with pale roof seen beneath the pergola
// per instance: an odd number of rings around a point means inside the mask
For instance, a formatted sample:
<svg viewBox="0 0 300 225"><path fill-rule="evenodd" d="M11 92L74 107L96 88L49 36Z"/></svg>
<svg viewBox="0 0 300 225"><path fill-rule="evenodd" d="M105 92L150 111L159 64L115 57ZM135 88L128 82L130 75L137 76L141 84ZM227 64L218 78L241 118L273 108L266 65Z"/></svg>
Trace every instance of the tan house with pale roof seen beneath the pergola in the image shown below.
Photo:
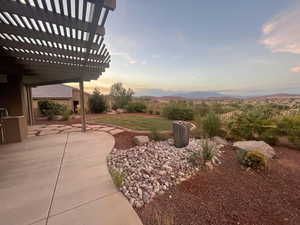
<svg viewBox="0 0 300 225"><path fill-rule="evenodd" d="M88 108L89 94L85 93L85 108ZM38 101L51 100L67 106L74 113L79 111L80 91L63 84L39 86L32 88L32 107L35 116L39 116Z"/></svg>

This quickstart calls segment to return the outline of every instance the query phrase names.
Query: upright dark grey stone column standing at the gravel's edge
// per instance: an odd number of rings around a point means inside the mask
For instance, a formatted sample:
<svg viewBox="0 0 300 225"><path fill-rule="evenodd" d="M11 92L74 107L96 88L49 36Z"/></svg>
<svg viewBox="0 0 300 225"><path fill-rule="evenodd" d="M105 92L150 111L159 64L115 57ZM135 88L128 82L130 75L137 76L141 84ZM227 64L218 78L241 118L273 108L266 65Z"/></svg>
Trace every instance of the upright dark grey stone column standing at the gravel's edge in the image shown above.
<svg viewBox="0 0 300 225"><path fill-rule="evenodd" d="M173 136L174 145L176 148L183 148L189 144L190 136L190 125L184 121L174 121L173 126Z"/></svg>

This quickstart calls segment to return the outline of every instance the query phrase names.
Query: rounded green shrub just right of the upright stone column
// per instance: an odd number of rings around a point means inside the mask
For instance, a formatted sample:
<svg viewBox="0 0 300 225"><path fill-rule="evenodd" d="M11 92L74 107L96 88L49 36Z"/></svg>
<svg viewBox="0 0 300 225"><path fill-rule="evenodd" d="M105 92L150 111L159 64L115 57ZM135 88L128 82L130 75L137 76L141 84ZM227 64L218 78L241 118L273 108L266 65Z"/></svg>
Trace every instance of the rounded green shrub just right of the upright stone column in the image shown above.
<svg viewBox="0 0 300 225"><path fill-rule="evenodd" d="M199 121L197 123L199 123ZM203 129L204 134L206 134L208 137L213 137L220 133L221 122L219 117L215 113L209 112L202 119L201 127Z"/></svg>

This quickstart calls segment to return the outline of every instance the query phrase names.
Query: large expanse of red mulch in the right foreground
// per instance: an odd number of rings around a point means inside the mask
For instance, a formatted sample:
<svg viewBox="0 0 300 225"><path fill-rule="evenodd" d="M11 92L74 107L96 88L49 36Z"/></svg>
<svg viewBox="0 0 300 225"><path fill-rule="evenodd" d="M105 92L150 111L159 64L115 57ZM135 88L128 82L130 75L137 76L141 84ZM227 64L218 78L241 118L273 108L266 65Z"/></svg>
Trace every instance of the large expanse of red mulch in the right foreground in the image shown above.
<svg viewBox="0 0 300 225"><path fill-rule="evenodd" d="M223 164L158 196L137 213L144 225L156 225L157 213L172 225L299 225L300 152L276 147L267 172L243 170L231 148Z"/></svg>

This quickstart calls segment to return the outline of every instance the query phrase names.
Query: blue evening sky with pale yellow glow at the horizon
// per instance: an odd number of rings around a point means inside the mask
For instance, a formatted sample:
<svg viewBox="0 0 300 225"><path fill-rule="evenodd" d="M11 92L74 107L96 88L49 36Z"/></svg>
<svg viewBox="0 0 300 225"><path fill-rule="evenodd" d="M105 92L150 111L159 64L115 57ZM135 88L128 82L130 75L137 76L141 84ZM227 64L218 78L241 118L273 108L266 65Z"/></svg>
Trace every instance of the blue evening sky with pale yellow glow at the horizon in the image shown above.
<svg viewBox="0 0 300 225"><path fill-rule="evenodd" d="M105 43L110 68L88 90L300 94L300 0L117 0Z"/></svg>

